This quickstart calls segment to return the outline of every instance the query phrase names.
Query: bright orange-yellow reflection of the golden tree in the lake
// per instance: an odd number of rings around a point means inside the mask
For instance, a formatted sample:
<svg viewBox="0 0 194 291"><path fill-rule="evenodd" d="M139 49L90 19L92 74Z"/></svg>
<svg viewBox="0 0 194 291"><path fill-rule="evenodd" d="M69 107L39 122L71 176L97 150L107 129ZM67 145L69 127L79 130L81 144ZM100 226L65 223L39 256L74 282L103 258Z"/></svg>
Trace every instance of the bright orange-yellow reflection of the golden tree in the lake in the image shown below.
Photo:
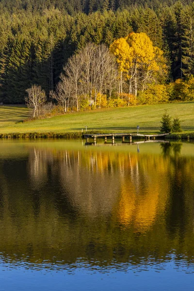
<svg viewBox="0 0 194 291"><path fill-rule="evenodd" d="M168 168L160 156L152 159L141 156L134 165L136 175L128 176L121 185L118 219L125 226L133 223L135 231L142 232L165 210Z"/></svg>

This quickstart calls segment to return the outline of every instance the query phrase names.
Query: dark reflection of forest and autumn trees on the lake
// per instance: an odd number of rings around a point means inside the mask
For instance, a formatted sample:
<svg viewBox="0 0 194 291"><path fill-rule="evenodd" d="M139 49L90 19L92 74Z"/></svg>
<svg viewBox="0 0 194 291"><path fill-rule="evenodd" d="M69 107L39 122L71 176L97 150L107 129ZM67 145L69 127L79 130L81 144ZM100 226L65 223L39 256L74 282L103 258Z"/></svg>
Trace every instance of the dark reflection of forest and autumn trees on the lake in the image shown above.
<svg viewBox="0 0 194 291"><path fill-rule="evenodd" d="M174 250L189 263L194 157L181 154L182 144L157 146L160 153L138 154L27 143L23 157L9 159L1 145L0 252L32 263L108 265L164 261Z"/></svg>

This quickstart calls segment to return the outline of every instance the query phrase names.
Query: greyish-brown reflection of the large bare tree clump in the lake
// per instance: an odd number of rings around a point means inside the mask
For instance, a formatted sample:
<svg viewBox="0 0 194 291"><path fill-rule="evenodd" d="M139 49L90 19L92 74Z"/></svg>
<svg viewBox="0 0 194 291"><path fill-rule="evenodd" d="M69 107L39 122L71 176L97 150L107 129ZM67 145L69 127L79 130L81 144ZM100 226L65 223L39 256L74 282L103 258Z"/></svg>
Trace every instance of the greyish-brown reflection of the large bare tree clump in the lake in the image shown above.
<svg viewBox="0 0 194 291"><path fill-rule="evenodd" d="M108 161L107 161L108 162ZM102 170L102 154L65 152L60 165L61 186L72 205L92 215L110 214L119 193L119 171Z"/></svg>

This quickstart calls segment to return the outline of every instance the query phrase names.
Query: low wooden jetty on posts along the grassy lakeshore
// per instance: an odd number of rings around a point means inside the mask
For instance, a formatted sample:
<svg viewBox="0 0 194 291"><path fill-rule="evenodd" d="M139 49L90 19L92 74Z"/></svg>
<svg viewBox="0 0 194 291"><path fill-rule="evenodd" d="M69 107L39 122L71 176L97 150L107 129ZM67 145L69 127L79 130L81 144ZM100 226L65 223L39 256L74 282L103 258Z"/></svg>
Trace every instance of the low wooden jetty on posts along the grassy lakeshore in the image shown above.
<svg viewBox="0 0 194 291"><path fill-rule="evenodd" d="M122 137L122 142L125 142L125 138L129 138L129 142L132 143L132 137L136 138L145 138L146 140L153 139L155 140L156 138L161 138L165 137L169 133L162 133L162 134L140 134L140 133L96 133L96 134L84 134L84 138L86 139L86 142L89 143L89 139L93 139L94 143L96 144L97 142L97 137L104 137L104 142L107 143L107 138L110 137L112 138L112 143L114 144L114 138L115 137Z"/></svg>

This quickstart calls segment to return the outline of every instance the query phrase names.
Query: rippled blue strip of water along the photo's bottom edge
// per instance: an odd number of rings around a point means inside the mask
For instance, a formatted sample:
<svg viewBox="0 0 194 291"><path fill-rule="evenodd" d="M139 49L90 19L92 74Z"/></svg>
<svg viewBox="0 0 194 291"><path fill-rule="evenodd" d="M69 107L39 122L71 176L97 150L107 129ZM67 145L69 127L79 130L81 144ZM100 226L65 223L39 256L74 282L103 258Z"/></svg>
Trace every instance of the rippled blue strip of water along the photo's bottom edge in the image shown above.
<svg viewBox="0 0 194 291"><path fill-rule="evenodd" d="M122 267L122 266L121 266ZM37 266L38 268L38 266ZM1 290L193 290L194 274L187 274L189 268L176 267L169 262L163 265L164 270L147 268L146 271L126 270L125 272L112 269L111 272L87 271L80 268L68 270L32 270L25 268L0 268Z"/></svg>

